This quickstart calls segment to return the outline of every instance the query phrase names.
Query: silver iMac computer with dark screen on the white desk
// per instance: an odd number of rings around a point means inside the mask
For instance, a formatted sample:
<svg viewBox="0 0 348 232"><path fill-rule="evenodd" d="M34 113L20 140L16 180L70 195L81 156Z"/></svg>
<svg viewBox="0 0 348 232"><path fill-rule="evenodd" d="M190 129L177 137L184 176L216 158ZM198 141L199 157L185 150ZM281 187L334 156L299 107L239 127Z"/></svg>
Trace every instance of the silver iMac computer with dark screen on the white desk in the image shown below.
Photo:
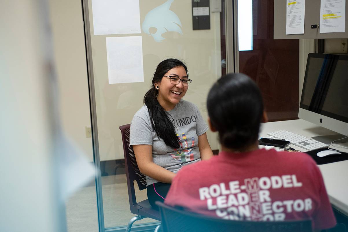
<svg viewBox="0 0 348 232"><path fill-rule="evenodd" d="M308 54L299 118L341 134L314 137L320 142L348 135L347 55Z"/></svg>

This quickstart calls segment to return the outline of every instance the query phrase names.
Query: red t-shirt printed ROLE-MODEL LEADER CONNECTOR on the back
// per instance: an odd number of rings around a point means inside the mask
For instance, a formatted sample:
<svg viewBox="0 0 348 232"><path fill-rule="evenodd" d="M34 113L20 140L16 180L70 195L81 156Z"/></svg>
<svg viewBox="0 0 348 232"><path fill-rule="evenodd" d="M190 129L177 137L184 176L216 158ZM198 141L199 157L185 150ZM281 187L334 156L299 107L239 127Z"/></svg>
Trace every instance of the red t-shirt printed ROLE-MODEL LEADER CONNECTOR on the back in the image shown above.
<svg viewBox="0 0 348 232"><path fill-rule="evenodd" d="M314 229L336 224L320 170L304 153L220 152L183 167L165 203L231 220L310 218Z"/></svg>

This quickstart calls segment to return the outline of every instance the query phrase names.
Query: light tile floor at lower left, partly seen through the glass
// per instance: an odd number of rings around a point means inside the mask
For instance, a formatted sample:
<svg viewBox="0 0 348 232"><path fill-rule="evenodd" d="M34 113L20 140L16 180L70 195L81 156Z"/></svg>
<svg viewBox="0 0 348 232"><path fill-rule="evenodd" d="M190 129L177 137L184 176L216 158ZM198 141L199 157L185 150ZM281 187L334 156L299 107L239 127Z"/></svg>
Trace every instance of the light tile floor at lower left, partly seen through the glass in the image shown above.
<svg viewBox="0 0 348 232"><path fill-rule="evenodd" d="M135 183L136 185L136 183ZM130 213L126 175L102 177L103 207L105 227L124 226L135 215ZM135 187L137 201L147 198L146 190ZM98 232L98 215L94 181L80 188L66 202L68 232ZM156 222L144 218L134 224Z"/></svg>

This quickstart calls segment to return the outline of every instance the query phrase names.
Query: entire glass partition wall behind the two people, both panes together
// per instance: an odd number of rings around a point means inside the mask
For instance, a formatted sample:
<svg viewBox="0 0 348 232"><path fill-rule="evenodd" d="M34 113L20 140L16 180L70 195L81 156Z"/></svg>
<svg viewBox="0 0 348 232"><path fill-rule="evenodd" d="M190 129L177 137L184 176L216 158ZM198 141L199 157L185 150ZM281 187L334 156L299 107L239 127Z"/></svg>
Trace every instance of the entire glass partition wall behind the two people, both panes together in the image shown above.
<svg viewBox="0 0 348 232"><path fill-rule="evenodd" d="M212 83L235 71L259 85L271 121L297 118L299 41L273 40L272 0L246 0L240 9L237 0L222 0L220 7L213 5L219 1L209 0L82 2L94 162L99 172L99 231L121 230L135 216L129 210L118 127L130 123L143 106L156 66L164 59L187 64L192 83L184 99L195 103L205 120ZM193 9L206 4L208 9ZM238 34L245 30L251 44L238 51ZM218 150L216 135L208 131L207 136L212 149ZM138 201L146 199L146 190L138 189L136 196ZM136 223L154 222L147 218Z"/></svg>

